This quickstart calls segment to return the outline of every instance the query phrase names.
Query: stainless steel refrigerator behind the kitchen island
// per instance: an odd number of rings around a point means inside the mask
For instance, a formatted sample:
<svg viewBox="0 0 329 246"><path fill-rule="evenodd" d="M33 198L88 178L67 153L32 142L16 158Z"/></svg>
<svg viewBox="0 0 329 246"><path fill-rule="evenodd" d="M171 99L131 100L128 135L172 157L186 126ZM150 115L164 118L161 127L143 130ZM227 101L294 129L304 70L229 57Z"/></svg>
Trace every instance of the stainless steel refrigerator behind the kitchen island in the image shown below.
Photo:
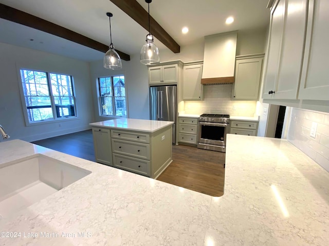
<svg viewBox="0 0 329 246"><path fill-rule="evenodd" d="M177 86L150 87L150 119L174 121L173 144L176 143Z"/></svg>

